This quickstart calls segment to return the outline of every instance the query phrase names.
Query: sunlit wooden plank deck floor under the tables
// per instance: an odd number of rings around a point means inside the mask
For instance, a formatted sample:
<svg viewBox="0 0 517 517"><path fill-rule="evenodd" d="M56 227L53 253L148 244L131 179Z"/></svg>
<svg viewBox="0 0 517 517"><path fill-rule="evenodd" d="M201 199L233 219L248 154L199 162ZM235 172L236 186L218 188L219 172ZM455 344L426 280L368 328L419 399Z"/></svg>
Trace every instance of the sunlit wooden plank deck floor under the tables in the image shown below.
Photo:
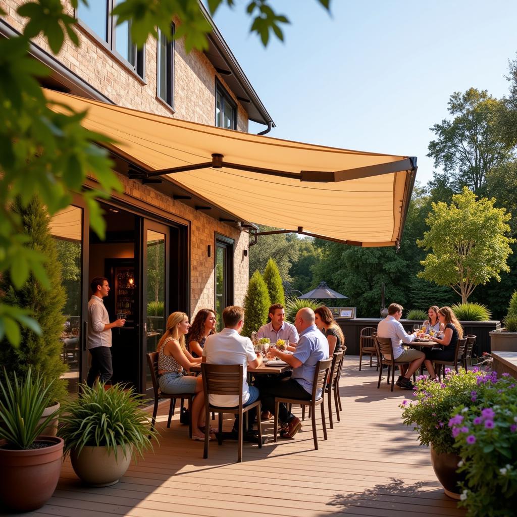
<svg viewBox="0 0 517 517"><path fill-rule="evenodd" d="M294 440L279 439L262 450L245 444L240 464L231 441L210 443L203 460L203 444L188 439L177 414L166 429L162 405L160 445L132 464L118 484L87 488L67 461L54 496L30 515L464 515L444 495L428 449L401 423L398 404L412 392L396 387L391 393L385 383L377 390L375 369L359 372L357 365L356 357L346 359L341 422L326 442L320 424L318 451L306 421ZM231 423L225 420L225 427Z"/></svg>

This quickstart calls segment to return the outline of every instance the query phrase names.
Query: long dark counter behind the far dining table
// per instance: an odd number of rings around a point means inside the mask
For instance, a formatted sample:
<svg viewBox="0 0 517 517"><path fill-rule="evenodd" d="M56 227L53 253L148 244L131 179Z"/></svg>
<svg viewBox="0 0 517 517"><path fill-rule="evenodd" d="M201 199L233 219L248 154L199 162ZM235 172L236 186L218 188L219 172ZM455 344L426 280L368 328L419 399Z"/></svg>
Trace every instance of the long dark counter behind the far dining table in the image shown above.
<svg viewBox="0 0 517 517"><path fill-rule="evenodd" d="M345 336L346 354L359 355L359 336L364 327L377 328L381 318L346 318L336 317L336 322L343 330ZM413 331L413 325L422 323L421 320L400 320L406 332ZM501 328L499 321L487 322L461 322L463 332L477 336L474 354L481 355L483 352L490 352L490 334L492 330Z"/></svg>

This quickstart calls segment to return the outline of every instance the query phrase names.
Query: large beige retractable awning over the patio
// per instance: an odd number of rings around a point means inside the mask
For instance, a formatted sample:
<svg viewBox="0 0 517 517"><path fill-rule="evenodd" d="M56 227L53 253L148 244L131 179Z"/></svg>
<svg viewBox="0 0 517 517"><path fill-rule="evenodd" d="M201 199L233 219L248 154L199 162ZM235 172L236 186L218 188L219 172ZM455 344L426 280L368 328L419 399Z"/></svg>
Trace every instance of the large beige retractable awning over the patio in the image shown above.
<svg viewBox="0 0 517 517"><path fill-rule="evenodd" d="M116 140L113 151L139 165L141 177L167 174L238 220L360 246L400 242L415 158L279 140L50 90L46 95L88 110L83 125Z"/></svg>

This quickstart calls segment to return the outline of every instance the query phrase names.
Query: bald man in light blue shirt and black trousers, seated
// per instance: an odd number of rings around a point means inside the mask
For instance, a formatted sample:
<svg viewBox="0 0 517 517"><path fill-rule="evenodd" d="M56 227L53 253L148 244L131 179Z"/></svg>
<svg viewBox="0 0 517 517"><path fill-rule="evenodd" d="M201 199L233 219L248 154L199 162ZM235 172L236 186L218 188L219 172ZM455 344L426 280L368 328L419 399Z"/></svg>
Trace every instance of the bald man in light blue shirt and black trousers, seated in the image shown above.
<svg viewBox="0 0 517 517"><path fill-rule="evenodd" d="M260 382L262 407L271 413L275 412L275 397L310 400L312 396L312 381L316 363L328 359L328 341L316 325L314 325L314 311L309 308L300 309L296 314L296 329L299 332L298 345L294 354L271 349L271 355L291 364L293 375L290 379ZM321 393L316 393L321 397ZM293 438L300 430L300 419L287 411L285 404L280 404L278 419L282 425L280 436Z"/></svg>

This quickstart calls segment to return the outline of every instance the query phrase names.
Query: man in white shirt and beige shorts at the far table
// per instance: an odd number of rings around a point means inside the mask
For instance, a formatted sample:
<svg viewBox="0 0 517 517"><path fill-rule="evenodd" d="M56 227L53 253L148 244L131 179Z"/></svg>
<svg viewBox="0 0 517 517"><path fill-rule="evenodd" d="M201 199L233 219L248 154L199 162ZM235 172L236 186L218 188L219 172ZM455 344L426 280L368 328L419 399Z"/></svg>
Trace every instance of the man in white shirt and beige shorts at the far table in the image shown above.
<svg viewBox="0 0 517 517"><path fill-rule="evenodd" d="M399 322L403 309L398 303L391 303L388 307L388 315L377 325L377 336L391 339L396 363L410 362L405 373L401 368L402 365L399 366L402 375L397 379L397 386L403 389L415 389L411 382L411 376L420 368L422 361L425 359L425 354L413 348L402 348L402 343L412 343L416 338L416 334L407 334L402 323Z"/></svg>

